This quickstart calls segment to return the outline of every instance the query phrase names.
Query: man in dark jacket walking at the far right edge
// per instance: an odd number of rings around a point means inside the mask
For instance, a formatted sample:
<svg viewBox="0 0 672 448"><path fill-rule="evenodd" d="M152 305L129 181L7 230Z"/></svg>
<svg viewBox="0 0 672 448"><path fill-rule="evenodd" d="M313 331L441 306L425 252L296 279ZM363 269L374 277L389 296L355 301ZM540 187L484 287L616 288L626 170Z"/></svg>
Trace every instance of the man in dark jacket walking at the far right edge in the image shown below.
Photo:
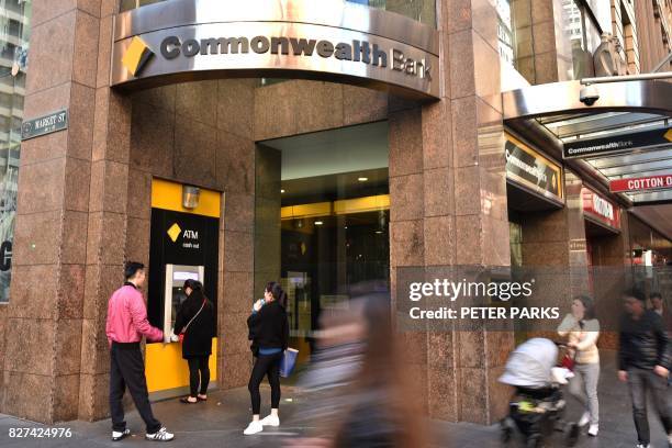
<svg viewBox="0 0 672 448"><path fill-rule="evenodd" d="M672 367L672 345L660 315L646 309L646 296L637 289L624 293L626 314L620 321L618 379L627 381L639 444L650 443L647 393L651 397L672 448L672 412L668 403L668 376Z"/></svg>

